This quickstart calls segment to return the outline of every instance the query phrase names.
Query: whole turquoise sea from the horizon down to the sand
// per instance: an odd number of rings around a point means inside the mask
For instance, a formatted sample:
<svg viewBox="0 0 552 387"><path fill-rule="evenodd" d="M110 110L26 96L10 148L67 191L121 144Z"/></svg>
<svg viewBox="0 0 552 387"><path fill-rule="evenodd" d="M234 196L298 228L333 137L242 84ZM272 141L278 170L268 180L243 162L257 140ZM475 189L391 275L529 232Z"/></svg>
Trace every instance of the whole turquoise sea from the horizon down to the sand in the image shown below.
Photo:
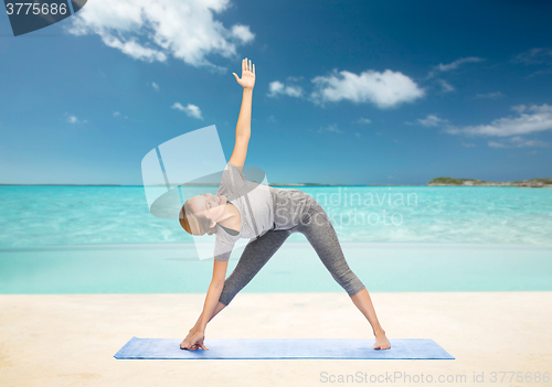
<svg viewBox="0 0 552 387"><path fill-rule="evenodd" d="M552 289L552 190L298 189L326 209L369 291ZM212 259L198 259L178 219L149 213L142 186L0 186L0 293L209 287ZM243 291L342 290L297 234Z"/></svg>

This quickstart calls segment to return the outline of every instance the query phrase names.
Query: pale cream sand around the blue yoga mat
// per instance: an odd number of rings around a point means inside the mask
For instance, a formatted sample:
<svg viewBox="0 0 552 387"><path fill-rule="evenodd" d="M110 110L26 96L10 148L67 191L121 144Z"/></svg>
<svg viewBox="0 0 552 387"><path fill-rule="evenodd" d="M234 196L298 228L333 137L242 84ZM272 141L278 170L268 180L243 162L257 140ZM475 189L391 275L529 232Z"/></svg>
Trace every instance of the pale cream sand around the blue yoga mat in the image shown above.
<svg viewBox="0 0 552 387"><path fill-rule="evenodd" d="M552 292L370 294L388 337L433 338L456 359L118 361L114 354L132 336L183 338L204 294L2 294L0 386L550 385L510 381L512 374L492 383L491 373L550 375ZM208 347L210 337L360 337L373 345L370 324L344 292L242 292L208 325ZM370 383L385 375L394 379Z"/></svg>

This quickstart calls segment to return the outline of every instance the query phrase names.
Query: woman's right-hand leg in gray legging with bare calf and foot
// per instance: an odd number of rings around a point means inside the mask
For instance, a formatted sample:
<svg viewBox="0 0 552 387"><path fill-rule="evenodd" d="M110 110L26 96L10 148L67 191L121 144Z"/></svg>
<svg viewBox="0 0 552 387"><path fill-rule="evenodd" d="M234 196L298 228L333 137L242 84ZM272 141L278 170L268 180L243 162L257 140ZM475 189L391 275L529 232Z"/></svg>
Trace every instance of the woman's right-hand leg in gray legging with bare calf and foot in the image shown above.
<svg viewBox="0 0 552 387"><path fill-rule="evenodd" d="M318 203L315 203L311 209L301 218L298 230L305 235L333 279L347 291L354 305L372 325L375 336L374 348L386 350L391 347L389 340L385 337L385 331L378 321L367 288L347 264L336 229Z"/></svg>

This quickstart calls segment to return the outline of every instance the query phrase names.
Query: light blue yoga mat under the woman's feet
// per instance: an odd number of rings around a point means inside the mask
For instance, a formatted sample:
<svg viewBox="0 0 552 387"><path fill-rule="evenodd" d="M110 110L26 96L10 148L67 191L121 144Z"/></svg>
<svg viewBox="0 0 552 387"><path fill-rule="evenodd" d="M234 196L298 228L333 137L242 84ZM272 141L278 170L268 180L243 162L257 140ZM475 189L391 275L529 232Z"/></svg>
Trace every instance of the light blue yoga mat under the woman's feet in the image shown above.
<svg viewBox="0 0 552 387"><path fill-rule="evenodd" d="M374 350L374 338L209 338L204 350L180 350L182 338L132 337L115 358L452 358L431 338L392 338Z"/></svg>

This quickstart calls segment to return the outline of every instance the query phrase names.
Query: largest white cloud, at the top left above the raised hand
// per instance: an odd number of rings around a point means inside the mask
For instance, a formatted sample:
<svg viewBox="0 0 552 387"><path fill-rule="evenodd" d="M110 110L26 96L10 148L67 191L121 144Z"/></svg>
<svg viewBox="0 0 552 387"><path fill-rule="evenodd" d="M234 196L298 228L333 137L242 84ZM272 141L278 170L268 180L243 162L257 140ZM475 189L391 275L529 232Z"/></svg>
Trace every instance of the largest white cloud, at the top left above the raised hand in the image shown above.
<svg viewBox="0 0 552 387"><path fill-rule="evenodd" d="M225 69L205 57L235 57L236 47L255 36L247 25L227 29L214 19L230 7L230 0L95 0L71 18L66 31L97 34L104 44L145 62L172 55L195 67Z"/></svg>

